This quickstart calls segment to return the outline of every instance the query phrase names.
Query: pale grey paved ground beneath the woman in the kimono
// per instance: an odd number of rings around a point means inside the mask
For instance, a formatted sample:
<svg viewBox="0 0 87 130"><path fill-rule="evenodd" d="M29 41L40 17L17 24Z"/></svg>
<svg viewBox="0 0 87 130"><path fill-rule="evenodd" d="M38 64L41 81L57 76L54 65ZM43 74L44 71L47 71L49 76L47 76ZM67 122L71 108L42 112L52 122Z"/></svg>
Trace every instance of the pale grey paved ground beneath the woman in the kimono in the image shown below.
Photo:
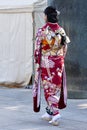
<svg viewBox="0 0 87 130"><path fill-rule="evenodd" d="M42 96L41 111L33 112L31 89L0 88L0 130L87 130L87 100L68 100L59 126L41 120L44 109Z"/></svg>

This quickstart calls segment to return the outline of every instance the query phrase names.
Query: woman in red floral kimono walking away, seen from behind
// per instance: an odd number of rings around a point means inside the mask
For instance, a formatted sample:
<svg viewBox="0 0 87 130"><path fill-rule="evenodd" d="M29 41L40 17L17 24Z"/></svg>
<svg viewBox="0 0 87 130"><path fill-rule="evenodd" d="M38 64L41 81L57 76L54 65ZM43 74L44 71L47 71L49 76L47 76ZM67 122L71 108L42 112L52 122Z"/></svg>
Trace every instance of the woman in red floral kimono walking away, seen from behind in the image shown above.
<svg viewBox="0 0 87 130"><path fill-rule="evenodd" d="M58 119L61 117L59 100L63 82L64 58L67 43L69 43L64 29L58 24L58 15L59 12L52 6L44 10L46 24L38 29L34 53L35 64L41 66L42 86L47 102L46 113L42 115L42 119L48 120L53 125L58 125ZM37 72L38 69L35 72L35 80L38 77Z"/></svg>

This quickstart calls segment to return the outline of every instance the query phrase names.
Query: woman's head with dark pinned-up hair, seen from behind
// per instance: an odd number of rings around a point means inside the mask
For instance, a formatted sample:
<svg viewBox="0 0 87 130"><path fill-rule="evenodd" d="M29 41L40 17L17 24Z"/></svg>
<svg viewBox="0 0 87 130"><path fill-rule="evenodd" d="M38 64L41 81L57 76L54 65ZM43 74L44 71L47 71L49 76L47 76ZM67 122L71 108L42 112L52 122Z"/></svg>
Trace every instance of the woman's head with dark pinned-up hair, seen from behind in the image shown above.
<svg viewBox="0 0 87 130"><path fill-rule="evenodd" d="M51 22L51 23L57 23L58 22L58 13L57 13L57 10L54 7L48 6L44 10L44 14L47 15L47 21L48 22Z"/></svg>

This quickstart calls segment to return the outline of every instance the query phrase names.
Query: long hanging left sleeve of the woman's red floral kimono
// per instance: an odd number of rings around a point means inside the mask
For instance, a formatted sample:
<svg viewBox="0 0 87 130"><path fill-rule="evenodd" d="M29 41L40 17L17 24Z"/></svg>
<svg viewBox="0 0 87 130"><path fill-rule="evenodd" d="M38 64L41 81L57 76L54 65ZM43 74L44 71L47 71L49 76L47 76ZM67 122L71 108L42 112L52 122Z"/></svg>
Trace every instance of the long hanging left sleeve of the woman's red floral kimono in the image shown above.
<svg viewBox="0 0 87 130"><path fill-rule="evenodd" d="M35 77L33 84L33 110L35 112L40 111L41 102L41 71L40 71L40 61L41 61L41 29L38 30L35 41L35 51L34 51L34 61L35 61Z"/></svg>

